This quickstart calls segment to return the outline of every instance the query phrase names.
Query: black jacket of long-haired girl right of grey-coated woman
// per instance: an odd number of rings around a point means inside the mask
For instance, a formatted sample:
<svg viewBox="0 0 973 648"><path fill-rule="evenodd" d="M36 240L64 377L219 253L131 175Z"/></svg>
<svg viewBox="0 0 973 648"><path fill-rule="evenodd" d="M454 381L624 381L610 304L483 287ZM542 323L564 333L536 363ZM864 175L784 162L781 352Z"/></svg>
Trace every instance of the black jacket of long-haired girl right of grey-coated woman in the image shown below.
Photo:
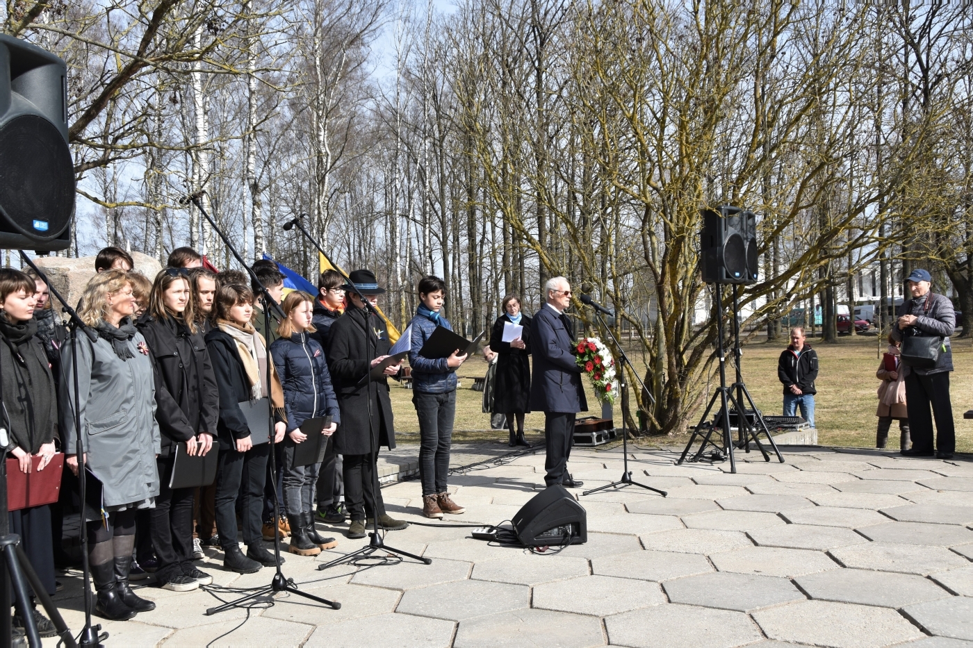
<svg viewBox="0 0 973 648"><path fill-rule="evenodd" d="M162 456L200 432L216 435L220 393L202 331L190 333L175 318L145 313L136 322L149 345L156 383L156 420Z"/></svg>

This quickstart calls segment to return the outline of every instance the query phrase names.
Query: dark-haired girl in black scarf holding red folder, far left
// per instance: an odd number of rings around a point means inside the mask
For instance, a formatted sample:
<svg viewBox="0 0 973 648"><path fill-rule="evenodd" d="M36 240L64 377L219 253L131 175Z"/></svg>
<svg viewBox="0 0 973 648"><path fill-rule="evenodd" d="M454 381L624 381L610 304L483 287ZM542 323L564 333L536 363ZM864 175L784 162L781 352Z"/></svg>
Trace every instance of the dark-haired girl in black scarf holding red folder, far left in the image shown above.
<svg viewBox="0 0 973 648"><path fill-rule="evenodd" d="M25 474L33 469L33 457L40 457L38 471L47 468L54 457L54 426L57 422L54 378L44 346L37 336L37 321L32 319L37 303L34 290L34 280L23 272L0 269L3 406L10 423L11 454L18 461L19 471ZM54 595L54 542L49 506L11 511L8 518L10 532L20 536L20 546L31 566L48 594ZM0 610L0 613L10 614L7 610ZM33 616L41 636L56 634L54 624L36 609ZM14 626L23 628L19 613L14 617Z"/></svg>

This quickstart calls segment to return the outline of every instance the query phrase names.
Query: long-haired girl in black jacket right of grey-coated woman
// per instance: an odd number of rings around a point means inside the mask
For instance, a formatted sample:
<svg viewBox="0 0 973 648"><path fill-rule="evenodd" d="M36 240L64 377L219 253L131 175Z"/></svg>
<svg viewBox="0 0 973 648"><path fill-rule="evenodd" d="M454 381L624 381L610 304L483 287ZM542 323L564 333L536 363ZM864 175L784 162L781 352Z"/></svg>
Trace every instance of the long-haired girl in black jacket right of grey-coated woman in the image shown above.
<svg viewBox="0 0 973 648"><path fill-rule="evenodd" d="M193 488L168 487L178 444L185 444L191 456L216 451L219 391L194 306L186 270L167 268L156 275L149 308L137 324L153 359L156 419L162 432L162 452L156 459L161 491L151 514L159 559L156 580L174 592L213 582L193 564Z"/></svg>

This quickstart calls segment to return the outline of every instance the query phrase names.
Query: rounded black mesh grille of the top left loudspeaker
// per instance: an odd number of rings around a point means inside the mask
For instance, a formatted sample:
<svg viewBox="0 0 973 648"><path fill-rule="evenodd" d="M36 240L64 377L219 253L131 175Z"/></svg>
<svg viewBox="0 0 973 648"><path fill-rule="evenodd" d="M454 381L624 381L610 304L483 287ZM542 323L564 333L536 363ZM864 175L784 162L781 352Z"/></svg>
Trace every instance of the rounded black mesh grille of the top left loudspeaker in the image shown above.
<svg viewBox="0 0 973 648"><path fill-rule="evenodd" d="M0 215L3 229L49 240L74 209L74 164L57 128L36 115L0 126ZM46 223L39 228L35 221Z"/></svg>

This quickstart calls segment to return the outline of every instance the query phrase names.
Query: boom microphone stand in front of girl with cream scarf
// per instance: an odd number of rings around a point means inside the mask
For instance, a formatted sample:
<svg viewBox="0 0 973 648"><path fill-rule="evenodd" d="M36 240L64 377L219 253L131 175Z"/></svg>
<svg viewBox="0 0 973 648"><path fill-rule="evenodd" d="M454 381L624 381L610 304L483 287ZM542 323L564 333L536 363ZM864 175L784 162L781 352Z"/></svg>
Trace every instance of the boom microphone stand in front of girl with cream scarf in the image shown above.
<svg viewBox="0 0 973 648"><path fill-rule="evenodd" d="M207 221L209 221L209 225L210 227L213 228L213 232L219 234L220 238L223 239L223 242L226 244L227 249L229 249L230 252L233 253L237 263L239 263L240 266L242 266L247 270L247 273L250 274L251 282L253 283L253 285L258 287L258 292L260 293L261 297L264 299L264 331L268 333L268 337L264 339L264 347L267 351L267 396L268 398L270 398L270 415L268 416L267 419L267 424L270 429L270 434L269 434L270 474L275 475L276 470L274 466L274 452L273 452L274 445L275 445L274 438L273 438L274 437L273 396L272 396L273 382L272 382L272 374L270 372L271 369L270 343L268 342L268 338L270 337L270 309L272 308L274 314L277 315L277 317L279 317L280 319L283 319L284 313L280 309L280 306L277 305L276 301L274 301L274 299L270 297L270 292L267 290L264 284L260 282L260 279L257 278L257 274L253 271L252 268L246 265L246 263L243 261L243 258L236 252L233 244L230 242L230 239L227 238L227 235L223 234L223 231L219 228L218 225L216 225L216 222L213 220L213 217L210 216L209 213L203 208L202 200L201 200L202 194L203 192L197 192L196 194L193 194L193 196L190 197L190 201L192 201L193 204L197 206L199 213L202 214ZM274 558L274 562L276 563L277 570L276 573L274 573L273 575L273 579L270 581L270 585L263 587L259 590L256 590L250 594L245 594L243 596L240 596L236 600L232 600L230 602L224 603L223 605L217 605L216 607L208 608L206 610L206 616L218 614L220 612L223 612L224 610L229 610L230 608L237 607L240 603L244 603L248 600L259 598L267 594L277 594L278 592L297 594L299 596L304 596L305 598L316 601L323 605L328 605L332 609L335 610L341 609L342 604L339 603L338 601L331 601L328 600L327 598L321 598L320 596L315 596L314 594L307 594L306 592L301 592L300 590L298 590L297 586L294 585L293 579L284 578L284 574L280 570L279 520L280 520L280 498L277 497L276 493L274 493L273 494L273 558Z"/></svg>

